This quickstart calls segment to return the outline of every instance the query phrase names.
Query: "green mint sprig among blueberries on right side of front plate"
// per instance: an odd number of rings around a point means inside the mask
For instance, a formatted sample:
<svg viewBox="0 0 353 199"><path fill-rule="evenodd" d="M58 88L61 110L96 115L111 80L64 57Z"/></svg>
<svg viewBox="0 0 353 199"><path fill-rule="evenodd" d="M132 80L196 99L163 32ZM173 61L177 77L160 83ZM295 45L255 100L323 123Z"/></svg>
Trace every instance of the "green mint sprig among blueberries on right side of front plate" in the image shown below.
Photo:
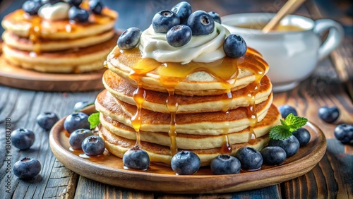
<svg viewBox="0 0 353 199"><path fill-rule="evenodd" d="M273 140L285 140L292 135L293 131L304 126L308 119L301 116L289 114L285 120L281 119L281 125L273 126L270 130L270 138Z"/></svg>

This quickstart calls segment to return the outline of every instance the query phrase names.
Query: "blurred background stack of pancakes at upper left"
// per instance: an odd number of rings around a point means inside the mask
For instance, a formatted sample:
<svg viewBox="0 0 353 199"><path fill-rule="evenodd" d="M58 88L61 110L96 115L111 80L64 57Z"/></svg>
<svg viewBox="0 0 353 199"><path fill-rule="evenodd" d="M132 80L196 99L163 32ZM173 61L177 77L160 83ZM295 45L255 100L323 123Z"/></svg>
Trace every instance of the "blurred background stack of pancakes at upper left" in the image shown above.
<svg viewBox="0 0 353 199"><path fill-rule="evenodd" d="M88 3L81 7L88 9ZM45 20L22 9L2 20L4 59L20 66L48 73L84 73L103 68L102 62L116 45L114 23L117 13L103 8L90 13L87 23Z"/></svg>

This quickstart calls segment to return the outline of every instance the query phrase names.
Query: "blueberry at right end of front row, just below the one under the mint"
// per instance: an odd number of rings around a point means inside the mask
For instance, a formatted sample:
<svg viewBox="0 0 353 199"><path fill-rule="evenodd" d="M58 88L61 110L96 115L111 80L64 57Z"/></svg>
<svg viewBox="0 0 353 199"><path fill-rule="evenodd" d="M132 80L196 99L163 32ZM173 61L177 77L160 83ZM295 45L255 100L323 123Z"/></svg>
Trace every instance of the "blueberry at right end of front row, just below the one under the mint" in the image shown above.
<svg viewBox="0 0 353 199"><path fill-rule="evenodd" d="M261 155L263 156L263 162L268 165L282 164L287 158L285 150L276 146L264 147L261 150Z"/></svg>

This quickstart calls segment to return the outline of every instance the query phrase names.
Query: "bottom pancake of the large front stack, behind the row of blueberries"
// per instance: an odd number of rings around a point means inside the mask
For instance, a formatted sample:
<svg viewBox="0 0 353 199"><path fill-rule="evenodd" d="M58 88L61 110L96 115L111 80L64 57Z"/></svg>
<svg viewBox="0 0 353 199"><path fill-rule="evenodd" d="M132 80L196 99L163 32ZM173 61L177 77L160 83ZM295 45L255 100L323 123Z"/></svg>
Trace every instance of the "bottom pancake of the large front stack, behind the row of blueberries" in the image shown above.
<svg viewBox="0 0 353 199"><path fill-rule="evenodd" d="M105 129L104 127L100 126L100 136L105 140L105 147L109 152L111 152L113 155L117 157L123 157L124 153L131 149L136 144L136 140L129 140L126 138L122 138L118 135L115 135L114 133L110 133ZM230 155L235 155L237 150L240 147L253 147L256 150L261 150L263 147L268 145L268 142L270 141L270 138L268 135L262 136L260 138L256 139L256 142L253 144L249 143L239 143L239 144L234 144L231 145L232 147L232 152ZM154 143L147 143L141 141L141 148L148 152L148 155L150 156L150 161L151 162L162 162L164 164L170 164L170 160L172 157L170 156L170 150L169 147L162 146L162 145L157 145ZM183 149L179 149L181 151ZM192 152L195 152L198 157L200 157L201 160L201 166L207 166L210 165L210 162L213 158L215 158L217 155L221 155L222 150L221 148L212 148L212 149L207 149L207 150L189 150Z"/></svg>

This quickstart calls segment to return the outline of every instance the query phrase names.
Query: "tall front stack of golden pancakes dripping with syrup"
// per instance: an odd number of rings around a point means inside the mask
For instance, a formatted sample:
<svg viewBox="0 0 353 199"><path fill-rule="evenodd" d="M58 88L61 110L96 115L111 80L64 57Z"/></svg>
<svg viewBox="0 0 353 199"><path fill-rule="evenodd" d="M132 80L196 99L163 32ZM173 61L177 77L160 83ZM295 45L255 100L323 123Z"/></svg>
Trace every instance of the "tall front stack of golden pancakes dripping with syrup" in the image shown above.
<svg viewBox="0 0 353 199"><path fill-rule="evenodd" d="M142 59L138 47L115 47L105 65L106 90L95 107L100 135L118 157L138 144L151 162L170 164L177 149L195 152L202 166L209 165L240 147L261 150L280 123L268 65L251 48L239 59L181 65Z"/></svg>

